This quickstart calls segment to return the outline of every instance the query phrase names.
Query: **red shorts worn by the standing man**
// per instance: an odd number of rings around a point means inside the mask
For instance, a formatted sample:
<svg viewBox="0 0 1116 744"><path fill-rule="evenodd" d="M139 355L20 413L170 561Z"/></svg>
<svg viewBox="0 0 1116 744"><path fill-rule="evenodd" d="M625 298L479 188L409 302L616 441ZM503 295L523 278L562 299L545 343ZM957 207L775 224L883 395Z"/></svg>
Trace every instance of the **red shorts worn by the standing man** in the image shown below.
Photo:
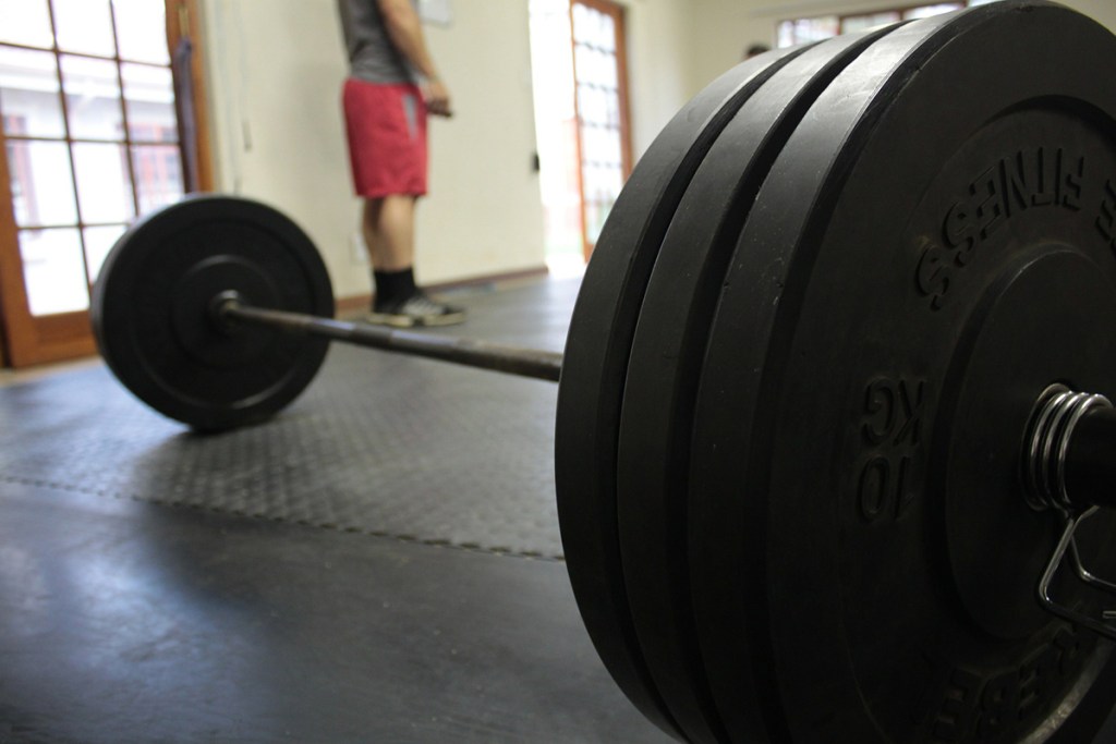
<svg viewBox="0 0 1116 744"><path fill-rule="evenodd" d="M419 86L349 78L341 96L357 196L426 193L426 104Z"/></svg>

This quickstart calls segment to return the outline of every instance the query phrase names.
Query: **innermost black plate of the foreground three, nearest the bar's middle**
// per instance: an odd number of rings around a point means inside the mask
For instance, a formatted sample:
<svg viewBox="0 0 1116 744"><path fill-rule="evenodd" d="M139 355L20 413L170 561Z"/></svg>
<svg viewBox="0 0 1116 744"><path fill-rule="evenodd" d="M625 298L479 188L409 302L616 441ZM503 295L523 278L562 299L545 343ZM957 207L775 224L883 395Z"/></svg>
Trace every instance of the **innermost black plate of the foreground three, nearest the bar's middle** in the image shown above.
<svg viewBox="0 0 1116 744"><path fill-rule="evenodd" d="M602 230L566 340L555 482L570 583L613 678L644 715L670 733L676 727L651 683L632 627L616 533L616 438L627 351L651 267L686 184L740 105L800 52L772 51L737 66L660 133Z"/></svg>

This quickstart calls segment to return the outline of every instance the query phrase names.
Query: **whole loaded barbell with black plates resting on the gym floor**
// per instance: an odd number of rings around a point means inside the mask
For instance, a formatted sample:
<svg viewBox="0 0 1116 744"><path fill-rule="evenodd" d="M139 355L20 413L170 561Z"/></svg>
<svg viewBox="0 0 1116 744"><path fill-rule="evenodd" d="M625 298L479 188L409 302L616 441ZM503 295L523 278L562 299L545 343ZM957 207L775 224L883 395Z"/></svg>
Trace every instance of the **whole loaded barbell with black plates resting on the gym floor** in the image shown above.
<svg viewBox="0 0 1116 744"><path fill-rule="evenodd" d="M271 207L133 225L95 335L260 421L330 339L557 379L570 581L691 742L1083 742L1116 699L1116 38L1007 0L777 50L643 155L555 355L329 318ZM1106 578L1107 577L1107 578Z"/></svg>

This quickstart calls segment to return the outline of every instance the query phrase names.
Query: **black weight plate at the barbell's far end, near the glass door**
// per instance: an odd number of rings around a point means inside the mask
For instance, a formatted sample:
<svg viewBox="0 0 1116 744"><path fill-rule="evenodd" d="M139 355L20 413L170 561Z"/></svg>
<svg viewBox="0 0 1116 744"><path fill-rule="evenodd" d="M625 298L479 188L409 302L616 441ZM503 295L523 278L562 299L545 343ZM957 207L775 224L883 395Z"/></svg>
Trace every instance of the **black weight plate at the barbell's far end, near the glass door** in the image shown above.
<svg viewBox="0 0 1116 744"><path fill-rule="evenodd" d="M310 239L276 210L193 196L143 218L113 247L90 317L109 368L136 397L201 431L263 419L314 379L328 342L224 327L213 298L333 316L329 276Z"/></svg>

